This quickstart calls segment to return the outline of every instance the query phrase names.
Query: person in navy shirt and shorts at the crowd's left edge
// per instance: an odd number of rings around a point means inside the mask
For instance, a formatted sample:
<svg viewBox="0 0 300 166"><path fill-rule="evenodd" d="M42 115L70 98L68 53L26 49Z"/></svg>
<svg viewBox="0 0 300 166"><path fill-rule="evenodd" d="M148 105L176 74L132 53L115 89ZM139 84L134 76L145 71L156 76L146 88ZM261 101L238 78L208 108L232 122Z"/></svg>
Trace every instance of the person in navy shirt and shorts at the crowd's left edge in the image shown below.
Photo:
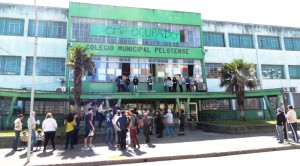
<svg viewBox="0 0 300 166"><path fill-rule="evenodd" d="M85 136L84 136L84 147L83 150L92 149L94 146L92 144L95 127L92 123L93 120L93 108L89 108L88 113L85 115ZM90 140L89 147L87 146L87 140Z"/></svg>

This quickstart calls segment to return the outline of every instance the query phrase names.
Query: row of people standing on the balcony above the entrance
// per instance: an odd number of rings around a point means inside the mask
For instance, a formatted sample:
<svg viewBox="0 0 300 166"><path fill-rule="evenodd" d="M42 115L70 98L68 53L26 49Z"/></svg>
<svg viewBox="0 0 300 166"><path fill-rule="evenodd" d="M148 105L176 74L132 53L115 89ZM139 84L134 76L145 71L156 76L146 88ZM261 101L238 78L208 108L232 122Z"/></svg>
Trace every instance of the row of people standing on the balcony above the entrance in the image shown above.
<svg viewBox="0 0 300 166"><path fill-rule="evenodd" d="M118 76L115 80L117 85L118 92L131 92L130 89L130 78L127 76ZM132 80L133 82L133 92L139 92L139 79L135 76ZM152 76L148 76L147 81L147 91L153 91L153 78ZM164 92L177 92L177 87L179 87L179 91L183 92L183 85L185 86L186 92L194 92L196 80L193 76L188 76L183 78L180 74L178 76L174 76L173 78L167 76L163 79L163 88ZM178 85L178 86L177 86Z"/></svg>

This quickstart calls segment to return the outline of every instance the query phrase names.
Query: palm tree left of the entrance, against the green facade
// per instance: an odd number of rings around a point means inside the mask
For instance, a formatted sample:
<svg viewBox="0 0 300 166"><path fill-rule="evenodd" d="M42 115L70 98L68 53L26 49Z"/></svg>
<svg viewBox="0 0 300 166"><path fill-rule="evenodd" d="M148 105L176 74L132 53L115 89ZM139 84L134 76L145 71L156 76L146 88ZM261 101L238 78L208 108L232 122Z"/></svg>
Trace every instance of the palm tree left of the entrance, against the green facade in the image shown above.
<svg viewBox="0 0 300 166"><path fill-rule="evenodd" d="M80 110L80 96L82 94L82 77L86 72L91 72L94 62L92 61L92 55L94 53L87 54L87 47L81 45L75 46L70 49L68 55L67 66L74 71L74 102L75 111L79 113Z"/></svg>

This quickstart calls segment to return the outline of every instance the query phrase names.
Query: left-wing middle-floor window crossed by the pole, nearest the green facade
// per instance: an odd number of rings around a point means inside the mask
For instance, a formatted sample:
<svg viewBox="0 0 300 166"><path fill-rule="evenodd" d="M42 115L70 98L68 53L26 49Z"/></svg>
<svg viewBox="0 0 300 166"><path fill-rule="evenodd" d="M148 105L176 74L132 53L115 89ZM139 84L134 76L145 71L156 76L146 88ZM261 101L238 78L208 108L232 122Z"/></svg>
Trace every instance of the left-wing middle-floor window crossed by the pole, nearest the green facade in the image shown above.
<svg viewBox="0 0 300 166"><path fill-rule="evenodd" d="M25 75L32 74L33 58L26 58ZM37 58L36 74L39 76L64 76L65 58Z"/></svg>

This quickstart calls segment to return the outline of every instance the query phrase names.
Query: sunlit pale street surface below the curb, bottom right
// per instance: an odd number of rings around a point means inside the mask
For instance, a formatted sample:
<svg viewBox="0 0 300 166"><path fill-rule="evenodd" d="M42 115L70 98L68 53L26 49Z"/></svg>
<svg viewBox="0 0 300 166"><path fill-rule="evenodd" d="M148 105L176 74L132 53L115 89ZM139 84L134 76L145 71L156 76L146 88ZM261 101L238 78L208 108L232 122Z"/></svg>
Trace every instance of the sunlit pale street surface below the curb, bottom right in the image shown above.
<svg viewBox="0 0 300 166"><path fill-rule="evenodd" d="M300 165L298 156L300 150L284 150L274 152L262 152L252 154L241 154L223 157L209 157L209 158L197 158L197 159L186 159L186 160L169 160L169 161L157 161L149 163L137 163L137 164L121 164L120 166L151 166L151 165L172 165L182 166L184 164L189 165L205 165L209 166L253 166L268 164L273 166L279 165Z"/></svg>

